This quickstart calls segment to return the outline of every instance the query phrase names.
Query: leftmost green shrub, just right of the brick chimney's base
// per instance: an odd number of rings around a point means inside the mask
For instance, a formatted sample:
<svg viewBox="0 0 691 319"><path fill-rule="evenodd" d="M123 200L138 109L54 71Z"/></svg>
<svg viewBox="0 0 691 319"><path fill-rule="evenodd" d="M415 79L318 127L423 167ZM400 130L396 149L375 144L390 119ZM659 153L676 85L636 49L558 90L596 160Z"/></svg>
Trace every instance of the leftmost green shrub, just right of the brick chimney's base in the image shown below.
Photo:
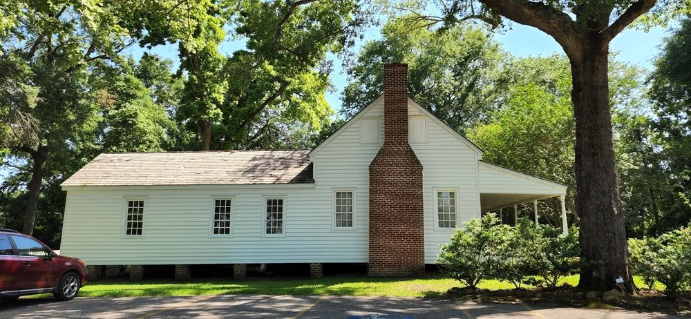
<svg viewBox="0 0 691 319"><path fill-rule="evenodd" d="M448 244L442 245L437 264L451 278L475 288L481 280L496 273L497 247L506 239L509 226L501 225L493 214L464 225L465 228L453 233Z"/></svg>

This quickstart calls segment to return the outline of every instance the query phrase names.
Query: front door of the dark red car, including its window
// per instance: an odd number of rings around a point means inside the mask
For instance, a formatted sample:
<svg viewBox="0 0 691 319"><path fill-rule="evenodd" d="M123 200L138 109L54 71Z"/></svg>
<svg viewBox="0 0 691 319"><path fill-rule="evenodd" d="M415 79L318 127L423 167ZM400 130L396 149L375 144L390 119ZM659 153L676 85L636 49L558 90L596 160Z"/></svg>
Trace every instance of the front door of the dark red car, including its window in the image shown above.
<svg viewBox="0 0 691 319"><path fill-rule="evenodd" d="M15 242L21 260L21 291L48 289L57 286L53 273L53 260L48 258L49 250L32 238L10 235Z"/></svg>

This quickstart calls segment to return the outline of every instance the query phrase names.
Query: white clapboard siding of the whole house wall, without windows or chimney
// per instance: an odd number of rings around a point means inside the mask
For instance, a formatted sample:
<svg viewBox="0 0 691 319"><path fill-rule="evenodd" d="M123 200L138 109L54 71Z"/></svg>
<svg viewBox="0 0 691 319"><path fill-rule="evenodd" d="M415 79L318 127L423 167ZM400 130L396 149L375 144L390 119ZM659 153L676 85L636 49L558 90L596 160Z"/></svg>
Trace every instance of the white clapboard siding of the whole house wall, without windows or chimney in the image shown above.
<svg viewBox="0 0 691 319"><path fill-rule="evenodd" d="M480 215L479 153L413 102L428 142L413 144L424 166L425 261L452 231L435 229L435 188L459 193L459 222ZM379 143L361 144L359 118L379 119ZM384 99L310 154L314 184L67 187L61 253L89 264L209 264L368 261L368 166L384 141ZM491 178L491 177L490 177ZM354 230L334 230L334 189L355 189ZM285 237L264 237L264 198L285 197ZM229 237L211 233L211 200L231 197ZM126 198L143 197L144 236L123 234Z"/></svg>

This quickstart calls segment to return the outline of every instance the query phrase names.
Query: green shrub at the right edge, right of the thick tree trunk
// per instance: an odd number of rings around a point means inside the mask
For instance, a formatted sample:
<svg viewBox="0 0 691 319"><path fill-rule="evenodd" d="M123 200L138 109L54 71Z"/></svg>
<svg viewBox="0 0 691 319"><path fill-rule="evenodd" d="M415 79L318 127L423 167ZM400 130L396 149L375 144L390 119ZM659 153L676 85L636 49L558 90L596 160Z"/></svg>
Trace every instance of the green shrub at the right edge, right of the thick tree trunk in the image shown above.
<svg viewBox="0 0 691 319"><path fill-rule="evenodd" d="M691 229L678 229L658 238L630 239L630 264L648 287L657 280L668 296L691 289Z"/></svg>

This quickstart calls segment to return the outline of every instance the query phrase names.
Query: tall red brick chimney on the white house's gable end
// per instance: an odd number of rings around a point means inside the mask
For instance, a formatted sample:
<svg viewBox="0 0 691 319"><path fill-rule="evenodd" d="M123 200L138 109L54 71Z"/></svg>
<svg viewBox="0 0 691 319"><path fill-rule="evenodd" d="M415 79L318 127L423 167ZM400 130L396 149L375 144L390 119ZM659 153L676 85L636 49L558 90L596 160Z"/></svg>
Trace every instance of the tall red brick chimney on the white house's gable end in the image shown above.
<svg viewBox="0 0 691 319"><path fill-rule="evenodd" d="M408 144L408 65L384 65L384 145L370 163L372 277L424 274L422 164Z"/></svg>

